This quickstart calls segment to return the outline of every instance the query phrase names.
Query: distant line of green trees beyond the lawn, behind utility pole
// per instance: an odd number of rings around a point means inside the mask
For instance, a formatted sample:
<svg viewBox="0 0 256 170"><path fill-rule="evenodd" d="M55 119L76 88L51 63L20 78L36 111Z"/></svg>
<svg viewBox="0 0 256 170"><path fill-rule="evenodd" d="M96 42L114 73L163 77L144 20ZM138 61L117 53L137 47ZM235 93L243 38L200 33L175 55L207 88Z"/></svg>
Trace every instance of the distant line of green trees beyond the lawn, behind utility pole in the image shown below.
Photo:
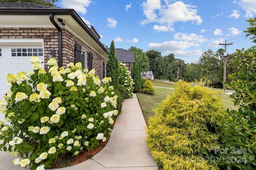
<svg viewBox="0 0 256 170"><path fill-rule="evenodd" d="M140 64L140 70L152 71L155 79L194 82L207 78L214 87L223 86L224 49L218 49L216 53L208 49L202 53L198 63L185 63L182 59L176 59L172 53L162 56L161 52L155 50L144 52L137 47L130 47L128 51L134 51L135 62ZM235 57L235 53L227 54L226 75L237 71L237 67L230 63Z"/></svg>

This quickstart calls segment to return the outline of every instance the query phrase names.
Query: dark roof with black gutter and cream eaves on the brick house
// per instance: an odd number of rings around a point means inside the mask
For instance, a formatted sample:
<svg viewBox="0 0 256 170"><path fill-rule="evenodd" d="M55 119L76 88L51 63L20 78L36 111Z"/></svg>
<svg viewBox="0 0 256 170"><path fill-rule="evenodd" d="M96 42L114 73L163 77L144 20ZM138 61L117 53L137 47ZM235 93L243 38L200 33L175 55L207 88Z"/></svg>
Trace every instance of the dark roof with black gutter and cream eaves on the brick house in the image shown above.
<svg viewBox="0 0 256 170"><path fill-rule="evenodd" d="M49 19L52 14L55 20L61 18L66 28L79 35L90 47L108 60L109 52L99 41L98 33L89 28L74 9L62 9L50 6L32 4L29 2L0 3L0 27L54 27ZM60 24L60 27L63 28ZM54 27L55 28L55 27Z"/></svg>

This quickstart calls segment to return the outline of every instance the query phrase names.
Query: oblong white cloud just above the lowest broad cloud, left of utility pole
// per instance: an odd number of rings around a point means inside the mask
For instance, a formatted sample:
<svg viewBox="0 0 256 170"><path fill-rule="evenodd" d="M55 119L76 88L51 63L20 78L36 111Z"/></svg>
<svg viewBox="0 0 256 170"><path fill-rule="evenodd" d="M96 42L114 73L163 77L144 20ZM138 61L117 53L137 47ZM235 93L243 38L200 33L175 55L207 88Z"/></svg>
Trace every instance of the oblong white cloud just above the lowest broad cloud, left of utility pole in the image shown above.
<svg viewBox="0 0 256 170"><path fill-rule="evenodd" d="M180 41L191 41L195 43L204 43L205 41L207 41L207 39L204 38L204 35L197 35L195 33L176 33L174 34L174 38Z"/></svg>

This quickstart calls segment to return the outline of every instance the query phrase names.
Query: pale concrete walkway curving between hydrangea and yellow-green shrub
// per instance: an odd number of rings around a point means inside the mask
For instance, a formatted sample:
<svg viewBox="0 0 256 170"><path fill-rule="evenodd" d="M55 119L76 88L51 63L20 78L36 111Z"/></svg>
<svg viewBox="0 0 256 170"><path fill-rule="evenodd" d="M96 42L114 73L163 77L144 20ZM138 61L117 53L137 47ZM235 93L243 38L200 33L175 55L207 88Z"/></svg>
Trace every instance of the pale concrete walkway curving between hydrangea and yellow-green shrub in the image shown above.
<svg viewBox="0 0 256 170"><path fill-rule="evenodd" d="M123 101L107 145L91 159L56 170L158 170L145 143L146 123L136 94ZM14 157L0 151L0 170L26 170L12 163Z"/></svg>

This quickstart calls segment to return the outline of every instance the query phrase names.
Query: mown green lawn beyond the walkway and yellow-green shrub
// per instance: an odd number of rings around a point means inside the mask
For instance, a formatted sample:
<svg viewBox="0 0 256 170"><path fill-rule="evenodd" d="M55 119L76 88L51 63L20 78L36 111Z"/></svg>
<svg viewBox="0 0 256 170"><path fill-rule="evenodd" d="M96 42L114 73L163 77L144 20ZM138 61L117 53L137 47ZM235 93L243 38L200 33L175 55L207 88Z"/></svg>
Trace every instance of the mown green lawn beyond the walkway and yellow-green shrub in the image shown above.
<svg viewBox="0 0 256 170"><path fill-rule="evenodd" d="M149 117L154 115L154 108L158 107L159 103L161 103L162 100L164 100L168 95L172 95L172 93L174 92L174 89L167 89L166 87L175 88L175 84L171 84L168 82L163 82L159 80L151 80L151 82L153 86L165 88L154 88L154 95L136 93L146 123L148 123ZM222 98L224 110L228 108L229 110L238 109L238 106L234 106L232 98L230 98L228 94L220 94L220 98Z"/></svg>

